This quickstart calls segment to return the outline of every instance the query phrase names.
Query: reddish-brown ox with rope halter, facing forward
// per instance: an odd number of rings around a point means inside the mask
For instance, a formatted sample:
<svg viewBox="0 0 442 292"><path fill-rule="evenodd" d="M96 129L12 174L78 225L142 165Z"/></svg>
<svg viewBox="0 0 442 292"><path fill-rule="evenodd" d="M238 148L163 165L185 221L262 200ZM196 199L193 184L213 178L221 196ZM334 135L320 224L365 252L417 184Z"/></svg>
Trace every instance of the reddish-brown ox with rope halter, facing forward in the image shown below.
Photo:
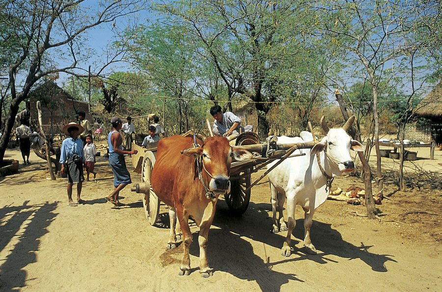
<svg viewBox="0 0 442 292"><path fill-rule="evenodd" d="M199 272L203 277L213 274L206 258L207 236L215 215L218 196L230 191L230 163L232 159L251 157L244 149L232 149L224 137L209 137L193 147L191 137L172 136L158 142L155 165L150 178L159 199L170 206L170 235L167 248L176 246L176 218L183 232L184 254L180 275L190 273L189 246L192 232L189 217L200 228ZM181 154L182 150L188 149ZM198 166L202 181L198 176Z"/></svg>

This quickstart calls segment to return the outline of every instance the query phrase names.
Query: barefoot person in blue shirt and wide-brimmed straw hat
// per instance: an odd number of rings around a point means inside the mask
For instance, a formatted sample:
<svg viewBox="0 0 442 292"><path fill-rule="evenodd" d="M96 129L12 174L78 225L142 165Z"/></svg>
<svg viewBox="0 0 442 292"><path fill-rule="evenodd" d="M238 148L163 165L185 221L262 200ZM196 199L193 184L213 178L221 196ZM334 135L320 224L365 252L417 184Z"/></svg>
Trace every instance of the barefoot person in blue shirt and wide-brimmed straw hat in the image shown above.
<svg viewBox="0 0 442 292"><path fill-rule="evenodd" d="M84 128L76 122L70 122L62 129L63 134L69 137L63 140L61 144L61 173L67 173L68 185L68 206L77 207L77 203L82 204L84 200L80 198L83 186L83 165L86 159L83 152L83 141L78 137L79 133L83 133ZM72 185L77 183L77 203L72 200Z"/></svg>

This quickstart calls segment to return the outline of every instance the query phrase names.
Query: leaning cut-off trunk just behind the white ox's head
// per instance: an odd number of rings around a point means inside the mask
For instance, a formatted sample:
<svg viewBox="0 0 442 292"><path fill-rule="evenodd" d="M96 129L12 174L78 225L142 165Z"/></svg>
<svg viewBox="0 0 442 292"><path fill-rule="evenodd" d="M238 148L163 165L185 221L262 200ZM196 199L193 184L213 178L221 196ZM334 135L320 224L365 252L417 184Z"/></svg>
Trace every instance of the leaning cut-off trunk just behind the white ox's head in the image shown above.
<svg viewBox="0 0 442 292"><path fill-rule="evenodd" d="M336 96L336 100L339 103L339 107L341 108L342 116L344 117L344 120L348 120L348 113L347 108L345 107L344 99L342 98L342 95L339 93L339 90L336 89L334 92ZM349 129L349 134L352 136L353 139L358 140L360 143L362 143L362 140L360 139L360 134L356 132L353 125ZM378 144L379 145L379 144ZM367 208L367 216L368 219L375 219L376 218L376 207L373 200L373 192L371 188L371 170L370 166L368 165L367 160L365 159L364 152L358 151L360 162L362 163L363 168L363 177L362 180L364 181L365 185L365 207Z"/></svg>

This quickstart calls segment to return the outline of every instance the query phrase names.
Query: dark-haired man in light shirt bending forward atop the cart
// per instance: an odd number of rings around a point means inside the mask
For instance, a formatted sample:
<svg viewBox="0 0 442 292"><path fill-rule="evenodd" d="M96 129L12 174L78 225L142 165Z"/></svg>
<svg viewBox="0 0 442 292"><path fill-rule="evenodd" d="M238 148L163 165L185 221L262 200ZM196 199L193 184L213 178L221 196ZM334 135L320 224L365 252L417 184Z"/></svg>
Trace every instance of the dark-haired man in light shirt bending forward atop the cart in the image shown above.
<svg viewBox="0 0 442 292"><path fill-rule="evenodd" d="M210 114L215 119L212 127L214 135L226 137L232 134L238 135L240 131L241 133L244 132L241 119L231 112L222 113L220 105L212 106L210 108Z"/></svg>

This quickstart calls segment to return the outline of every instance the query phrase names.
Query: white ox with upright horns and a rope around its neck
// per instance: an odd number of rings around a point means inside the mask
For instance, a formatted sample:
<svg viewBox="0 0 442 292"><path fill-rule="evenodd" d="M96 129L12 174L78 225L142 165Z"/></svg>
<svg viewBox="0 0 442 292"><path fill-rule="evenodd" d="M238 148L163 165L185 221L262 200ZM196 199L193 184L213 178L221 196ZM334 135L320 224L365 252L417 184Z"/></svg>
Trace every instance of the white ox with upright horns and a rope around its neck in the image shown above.
<svg viewBox="0 0 442 292"><path fill-rule="evenodd" d="M305 153L304 156L289 157L279 164L268 174L270 190L272 192L273 228L272 232L287 230L287 236L282 246L282 255L288 257L291 254L290 243L292 231L295 228L295 207L301 205L304 209L304 247L307 253L316 254L316 248L310 240L310 226L315 209L324 203L329 195L330 186L327 186L328 178L340 175L342 172L350 172L355 168L355 163L350 156L350 148L355 151L363 151L363 146L352 140L346 133L355 121L352 116L342 128L329 129L324 117L321 125L327 135L320 143L310 149L296 150L294 154ZM290 138L278 137L278 144L303 143L313 141L310 132L303 131L301 137ZM319 154L319 166L315 154ZM268 168L276 163L269 164ZM322 169L324 170L321 170ZM285 224L282 208L287 197L288 222ZM276 212L279 217L276 220ZM278 226L279 225L279 226Z"/></svg>

